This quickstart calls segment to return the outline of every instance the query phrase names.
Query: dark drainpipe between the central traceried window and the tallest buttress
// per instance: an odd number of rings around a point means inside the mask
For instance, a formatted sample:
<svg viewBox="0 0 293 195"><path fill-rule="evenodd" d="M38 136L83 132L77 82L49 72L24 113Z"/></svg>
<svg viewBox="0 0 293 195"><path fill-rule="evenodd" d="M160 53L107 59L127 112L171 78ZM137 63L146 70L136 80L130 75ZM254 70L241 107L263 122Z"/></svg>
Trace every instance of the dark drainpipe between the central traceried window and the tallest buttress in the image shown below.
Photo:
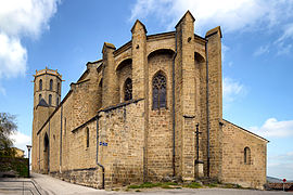
<svg viewBox="0 0 293 195"><path fill-rule="evenodd" d="M171 70L171 98L173 98L173 177L175 177L175 58L177 56L177 30L175 31L175 54L173 57L173 70Z"/></svg>

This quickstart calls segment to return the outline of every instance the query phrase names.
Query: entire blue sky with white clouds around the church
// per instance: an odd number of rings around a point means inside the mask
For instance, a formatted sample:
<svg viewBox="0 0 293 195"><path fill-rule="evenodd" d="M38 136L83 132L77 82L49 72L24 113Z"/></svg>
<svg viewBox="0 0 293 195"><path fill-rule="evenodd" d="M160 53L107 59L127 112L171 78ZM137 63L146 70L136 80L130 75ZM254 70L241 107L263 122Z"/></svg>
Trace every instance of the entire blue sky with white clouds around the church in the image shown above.
<svg viewBox="0 0 293 195"><path fill-rule="evenodd" d="M62 98L101 58L103 42L174 30L190 10L195 32L222 30L224 118L270 141L268 176L293 179L293 1L0 0L0 112L17 117L15 145L30 143L36 69L58 69Z"/></svg>

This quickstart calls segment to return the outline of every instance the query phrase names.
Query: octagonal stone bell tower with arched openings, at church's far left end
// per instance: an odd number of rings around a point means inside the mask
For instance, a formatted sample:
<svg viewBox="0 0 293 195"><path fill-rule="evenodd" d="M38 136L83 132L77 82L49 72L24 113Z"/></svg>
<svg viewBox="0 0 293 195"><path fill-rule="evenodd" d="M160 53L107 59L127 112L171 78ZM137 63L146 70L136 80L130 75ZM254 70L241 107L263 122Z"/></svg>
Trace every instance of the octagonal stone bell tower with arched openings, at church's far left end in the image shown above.
<svg viewBox="0 0 293 195"><path fill-rule="evenodd" d="M33 120L33 170L37 170L39 153L37 132L61 102L62 75L46 67L34 75L34 120ZM40 138L39 138L40 139Z"/></svg>

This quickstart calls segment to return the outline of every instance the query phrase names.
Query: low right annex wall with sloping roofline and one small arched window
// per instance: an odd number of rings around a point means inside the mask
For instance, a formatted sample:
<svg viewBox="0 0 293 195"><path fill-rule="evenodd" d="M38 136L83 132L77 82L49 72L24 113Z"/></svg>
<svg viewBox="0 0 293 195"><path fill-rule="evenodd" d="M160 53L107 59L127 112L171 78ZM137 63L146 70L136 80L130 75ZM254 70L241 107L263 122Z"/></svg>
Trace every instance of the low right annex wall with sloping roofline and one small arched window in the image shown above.
<svg viewBox="0 0 293 195"><path fill-rule="evenodd" d="M222 126L221 181L244 187L264 188L266 183L267 141L227 120ZM244 148L251 160L244 162Z"/></svg>

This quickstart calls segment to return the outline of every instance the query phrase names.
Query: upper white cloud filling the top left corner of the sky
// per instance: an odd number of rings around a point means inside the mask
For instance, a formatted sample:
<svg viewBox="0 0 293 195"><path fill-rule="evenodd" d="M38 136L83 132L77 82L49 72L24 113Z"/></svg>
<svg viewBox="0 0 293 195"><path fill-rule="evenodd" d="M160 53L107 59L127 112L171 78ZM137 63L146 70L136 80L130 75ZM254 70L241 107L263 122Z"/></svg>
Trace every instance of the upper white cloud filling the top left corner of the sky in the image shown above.
<svg viewBox="0 0 293 195"><path fill-rule="evenodd" d="M10 36L39 36L56 12L58 0L1 0L0 29Z"/></svg>

